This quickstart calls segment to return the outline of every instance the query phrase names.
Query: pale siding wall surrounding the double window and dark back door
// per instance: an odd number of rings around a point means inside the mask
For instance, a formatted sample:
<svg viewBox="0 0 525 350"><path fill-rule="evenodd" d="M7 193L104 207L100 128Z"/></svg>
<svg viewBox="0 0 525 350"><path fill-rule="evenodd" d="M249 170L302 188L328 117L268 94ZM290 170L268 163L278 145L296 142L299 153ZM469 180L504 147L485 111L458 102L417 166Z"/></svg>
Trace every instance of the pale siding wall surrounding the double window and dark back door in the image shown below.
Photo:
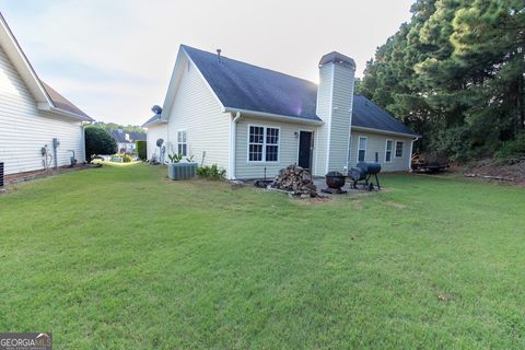
<svg viewBox="0 0 525 350"><path fill-rule="evenodd" d="M249 128L261 127L267 131L268 128L279 130L278 159L277 161L267 161L265 152L261 154L261 161L249 160ZM275 120L265 120L243 116L235 126L235 176L241 179L262 178L265 175L271 179L281 168L291 164L299 163L299 132L316 131L315 126L298 125L291 122L280 122ZM315 136L314 136L315 137ZM266 140L262 147L266 148ZM271 145L271 144L269 144ZM314 143L315 153L315 143ZM314 155L315 159L315 155ZM314 162L315 163L315 162ZM313 164L313 166L315 166Z"/></svg>

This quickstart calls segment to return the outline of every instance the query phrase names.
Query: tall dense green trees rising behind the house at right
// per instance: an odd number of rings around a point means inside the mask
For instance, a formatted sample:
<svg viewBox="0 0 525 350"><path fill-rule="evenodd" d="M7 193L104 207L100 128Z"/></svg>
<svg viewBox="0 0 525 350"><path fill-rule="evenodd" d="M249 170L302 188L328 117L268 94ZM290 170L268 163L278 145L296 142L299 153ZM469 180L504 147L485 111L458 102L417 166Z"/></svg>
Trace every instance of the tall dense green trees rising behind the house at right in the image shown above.
<svg viewBox="0 0 525 350"><path fill-rule="evenodd" d="M492 154L525 128L523 0L418 0L369 61L359 92L453 159Z"/></svg>

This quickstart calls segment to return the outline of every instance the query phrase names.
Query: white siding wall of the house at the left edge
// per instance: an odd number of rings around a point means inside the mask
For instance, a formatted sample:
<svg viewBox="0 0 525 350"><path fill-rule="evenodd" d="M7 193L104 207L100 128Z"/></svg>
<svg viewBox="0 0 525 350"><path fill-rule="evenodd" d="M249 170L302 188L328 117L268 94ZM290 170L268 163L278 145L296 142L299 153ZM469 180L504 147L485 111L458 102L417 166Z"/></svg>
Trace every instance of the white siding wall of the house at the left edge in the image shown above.
<svg viewBox="0 0 525 350"><path fill-rule="evenodd" d="M36 101L0 48L0 162L5 174L43 170L40 149L58 138L58 165L70 164L70 150L85 160L81 121L37 109Z"/></svg>

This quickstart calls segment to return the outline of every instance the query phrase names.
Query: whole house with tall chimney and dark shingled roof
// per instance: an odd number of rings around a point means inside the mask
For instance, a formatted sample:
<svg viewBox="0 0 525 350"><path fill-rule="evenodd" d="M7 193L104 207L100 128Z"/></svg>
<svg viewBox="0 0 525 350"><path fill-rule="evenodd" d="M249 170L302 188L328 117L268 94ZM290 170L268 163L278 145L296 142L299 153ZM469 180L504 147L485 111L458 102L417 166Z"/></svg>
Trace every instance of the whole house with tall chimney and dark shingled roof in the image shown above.
<svg viewBox="0 0 525 350"><path fill-rule="evenodd" d="M314 175L359 161L409 171L418 136L353 93L355 63L338 52L319 62L319 84L180 46L160 115L144 124L168 153L217 163L229 178L273 176L299 164Z"/></svg>

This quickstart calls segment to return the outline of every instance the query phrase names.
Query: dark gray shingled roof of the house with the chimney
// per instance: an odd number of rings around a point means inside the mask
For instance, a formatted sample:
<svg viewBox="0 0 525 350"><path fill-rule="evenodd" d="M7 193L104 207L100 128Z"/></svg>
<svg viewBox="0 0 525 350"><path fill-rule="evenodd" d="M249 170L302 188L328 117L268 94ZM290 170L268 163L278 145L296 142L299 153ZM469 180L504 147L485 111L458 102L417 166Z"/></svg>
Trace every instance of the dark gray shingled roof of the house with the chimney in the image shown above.
<svg viewBox="0 0 525 350"><path fill-rule="evenodd" d="M189 46L183 45L182 48L224 107L322 120L316 115L315 83L223 56L219 59L215 54ZM337 52L329 54L324 59L353 62L351 58ZM153 118L145 124L153 121ZM400 120L361 95L354 96L352 126L416 136Z"/></svg>

